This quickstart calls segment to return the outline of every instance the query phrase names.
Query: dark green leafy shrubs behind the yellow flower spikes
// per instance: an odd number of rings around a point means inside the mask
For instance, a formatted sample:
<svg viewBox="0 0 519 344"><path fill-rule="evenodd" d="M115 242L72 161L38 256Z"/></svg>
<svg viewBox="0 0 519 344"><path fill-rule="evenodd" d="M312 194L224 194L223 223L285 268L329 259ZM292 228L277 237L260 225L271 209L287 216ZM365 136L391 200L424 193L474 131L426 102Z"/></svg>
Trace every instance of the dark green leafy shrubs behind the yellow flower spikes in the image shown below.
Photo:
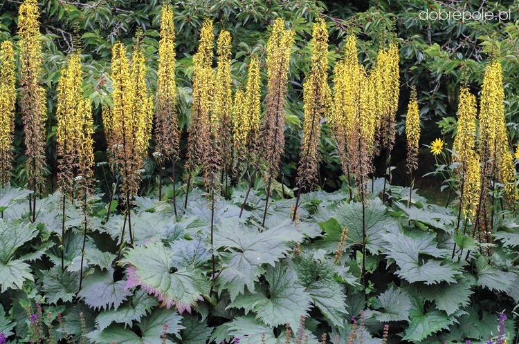
<svg viewBox="0 0 519 344"><path fill-rule="evenodd" d="M102 134L101 106L109 102L111 89L109 59L111 47L118 41L131 47L137 32L142 36L149 65L149 84L156 86L158 62L158 27L160 23L160 1L61 1L46 0L41 3L42 33L44 34L44 85L48 95L48 169L49 191L55 189L55 89L60 77L60 68L72 47L80 45L87 73L84 93L93 101L96 162L106 161L106 143ZM296 50L291 60L289 102L286 115L286 149L282 161L284 182L294 187L295 168L299 159L300 128L302 126L302 84L309 70L310 52L306 42L311 37L309 23L316 16L327 19L330 33L329 62L340 58L343 39L349 33L356 33L361 44L361 60L369 66L376 58L381 43L388 33L394 31L399 38L401 54L401 97L397 113L399 133L403 131L403 117L406 113L410 87L415 85L421 108L421 124L424 127L421 144L429 144L441 135L437 122L444 120L444 131L452 131L455 123L455 109L459 85L466 82L473 93L480 91L484 72L484 62L489 52L500 56L504 70L505 93L507 97L507 119L511 129L511 140L517 140L517 113L519 113L519 71L518 49L519 28L516 20L519 6L516 1L176 1L174 22L177 32L176 84L179 89L177 113L183 129L188 126L189 108L192 102L191 81L192 55L196 51L201 22L204 18L215 21L215 29L229 30L233 37L233 83L239 87L252 55L263 56L268 37L267 26L277 17L291 23L296 32ZM17 8L19 1L4 0L0 3L0 41L13 37L17 40ZM419 12L424 10L478 10L508 12L511 17L499 21L492 19L455 21L421 20ZM265 69L263 69L265 73ZM266 76L263 75L266 82ZM264 88L265 90L265 88ZM185 130L182 144L185 145ZM449 140L450 135L446 137ZM405 184L405 142L397 137L397 146L392 154L394 182ZM17 149L17 170L15 181L26 182L23 170L24 146L22 144L21 119L17 116L15 137ZM323 156L320 182L325 189L340 186L340 168L333 140L329 135L322 138ZM431 171L434 160L427 149L422 149L417 175ZM383 172L383 158L375 160L376 175ZM98 167L99 186L105 191L104 170ZM154 164L147 164L146 176L152 178ZM148 180L150 182L151 180ZM434 188L429 188L432 182ZM421 178L419 187L438 189L435 180ZM149 184L154 184L151 182ZM432 195L432 198L435 196Z"/></svg>

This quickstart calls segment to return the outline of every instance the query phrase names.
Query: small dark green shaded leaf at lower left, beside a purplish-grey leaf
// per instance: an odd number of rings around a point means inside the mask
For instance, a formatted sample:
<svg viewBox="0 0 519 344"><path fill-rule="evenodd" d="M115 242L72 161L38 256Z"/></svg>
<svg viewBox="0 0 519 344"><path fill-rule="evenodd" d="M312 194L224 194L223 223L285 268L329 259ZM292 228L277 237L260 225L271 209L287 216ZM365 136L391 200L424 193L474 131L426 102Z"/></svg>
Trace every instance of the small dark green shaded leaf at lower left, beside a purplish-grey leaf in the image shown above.
<svg viewBox="0 0 519 344"><path fill-rule="evenodd" d="M78 272L62 271L61 267L41 271L43 275L43 289L49 303L57 301L70 302L78 292Z"/></svg>

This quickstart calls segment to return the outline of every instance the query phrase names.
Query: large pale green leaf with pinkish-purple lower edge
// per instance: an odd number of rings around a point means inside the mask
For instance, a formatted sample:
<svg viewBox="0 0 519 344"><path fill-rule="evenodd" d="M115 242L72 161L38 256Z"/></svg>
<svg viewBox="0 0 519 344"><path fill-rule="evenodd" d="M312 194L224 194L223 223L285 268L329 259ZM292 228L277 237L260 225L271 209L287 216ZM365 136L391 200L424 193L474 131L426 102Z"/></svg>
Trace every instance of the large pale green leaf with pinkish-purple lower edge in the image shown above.
<svg viewBox="0 0 519 344"><path fill-rule="evenodd" d="M191 306L210 292L208 278L200 269L191 266L170 273L172 252L161 242L129 249L122 263L129 265L127 288L140 285L158 295L167 308L176 305L180 313L191 312Z"/></svg>

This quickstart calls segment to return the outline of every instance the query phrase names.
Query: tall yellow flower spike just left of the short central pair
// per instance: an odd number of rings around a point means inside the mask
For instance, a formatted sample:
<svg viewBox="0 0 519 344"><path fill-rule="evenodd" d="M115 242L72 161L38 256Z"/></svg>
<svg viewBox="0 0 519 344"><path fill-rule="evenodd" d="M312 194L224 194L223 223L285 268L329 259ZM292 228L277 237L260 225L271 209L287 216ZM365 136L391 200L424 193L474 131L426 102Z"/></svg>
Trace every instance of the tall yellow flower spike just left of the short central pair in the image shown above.
<svg viewBox="0 0 519 344"><path fill-rule="evenodd" d="M232 163L233 135L231 128L233 111L233 93L230 79L231 39L228 31L220 32L218 37L218 69L215 83L215 103L212 114L212 132L217 140L219 158L224 166L224 173L230 173ZM216 148L216 147L215 147Z"/></svg>

